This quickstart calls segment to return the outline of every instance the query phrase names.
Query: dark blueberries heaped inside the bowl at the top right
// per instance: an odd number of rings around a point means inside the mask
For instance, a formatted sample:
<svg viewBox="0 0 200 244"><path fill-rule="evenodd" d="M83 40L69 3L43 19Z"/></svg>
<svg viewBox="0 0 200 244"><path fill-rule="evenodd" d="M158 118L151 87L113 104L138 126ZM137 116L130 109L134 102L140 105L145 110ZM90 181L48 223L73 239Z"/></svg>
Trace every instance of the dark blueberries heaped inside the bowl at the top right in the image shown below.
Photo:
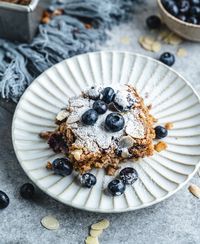
<svg viewBox="0 0 200 244"><path fill-rule="evenodd" d="M162 0L162 4L176 18L191 24L200 24L200 0Z"/></svg>

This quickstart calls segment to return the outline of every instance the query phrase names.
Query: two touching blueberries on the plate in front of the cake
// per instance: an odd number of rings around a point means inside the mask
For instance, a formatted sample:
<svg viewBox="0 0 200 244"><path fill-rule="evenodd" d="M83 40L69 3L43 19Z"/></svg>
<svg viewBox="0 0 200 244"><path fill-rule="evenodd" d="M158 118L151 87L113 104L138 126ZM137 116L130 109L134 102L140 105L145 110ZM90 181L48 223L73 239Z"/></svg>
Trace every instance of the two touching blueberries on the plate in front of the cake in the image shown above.
<svg viewBox="0 0 200 244"><path fill-rule="evenodd" d="M108 184L108 192L112 196L120 196L126 190L126 185L132 185L138 179L134 168L127 167L120 171L119 179L114 179Z"/></svg>

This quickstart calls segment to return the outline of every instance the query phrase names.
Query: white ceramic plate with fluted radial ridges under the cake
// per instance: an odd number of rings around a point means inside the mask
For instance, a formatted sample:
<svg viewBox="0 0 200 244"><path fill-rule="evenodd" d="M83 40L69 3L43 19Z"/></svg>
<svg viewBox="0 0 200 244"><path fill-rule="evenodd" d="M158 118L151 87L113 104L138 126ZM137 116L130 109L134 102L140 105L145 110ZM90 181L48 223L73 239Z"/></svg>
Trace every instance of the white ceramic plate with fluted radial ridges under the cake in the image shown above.
<svg viewBox="0 0 200 244"><path fill-rule="evenodd" d="M61 177L48 171L47 161L58 155L38 134L55 128L55 116L68 97L88 86L119 82L132 84L143 97L148 94L159 124L172 122L174 128L165 139L166 151L123 164L135 167L139 180L113 198L102 190L111 180L103 170L93 170L97 184L92 189L81 188L76 173ZM16 108L12 138L26 174L58 201L95 212L135 210L166 199L195 174L200 161L200 103L188 82L156 60L126 52L89 53L51 67L31 84Z"/></svg>

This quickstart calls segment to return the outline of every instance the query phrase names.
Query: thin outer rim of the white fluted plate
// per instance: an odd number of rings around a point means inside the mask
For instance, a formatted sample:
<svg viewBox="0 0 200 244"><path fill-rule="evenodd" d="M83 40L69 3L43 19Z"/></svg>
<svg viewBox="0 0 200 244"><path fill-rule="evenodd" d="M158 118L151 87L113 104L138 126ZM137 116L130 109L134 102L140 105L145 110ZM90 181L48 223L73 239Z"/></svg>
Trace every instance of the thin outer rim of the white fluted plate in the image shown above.
<svg viewBox="0 0 200 244"><path fill-rule="evenodd" d="M147 208L147 207L150 207L150 206L153 206L157 203L160 203L166 199L168 199L169 197L171 197L172 195L174 195L176 192L178 192L180 189L182 189L192 178L193 176L196 174L196 172L198 171L199 167L200 167L200 160L198 161L198 163L195 165L195 168L194 170L192 171L192 173L188 174L187 175L187 178L184 182L180 183L179 186L173 190L173 191L170 191L168 194L166 194L164 197L161 197L157 200L154 200L152 202L149 202L149 203L143 203L142 205L139 205L139 206L134 206L134 207L127 207L125 209L99 209L99 208L91 208L91 207L82 207L82 206L79 206L77 204L74 204L74 203L66 203L64 200L62 200L61 198L59 197L56 197L54 196L51 192L49 192L48 190L46 190L43 186L40 185L40 183L38 183L38 181L36 179L34 179L26 170L25 168L23 167L22 163L21 163L21 159L20 159L20 156L18 154L18 150L16 148L16 143L15 143L15 136L14 136L14 129L15 129L15 119L16 119L16 115L17 115L17 112L20 108L20 105L22 103L22 101L24 100L24 97L26 95L27 92L29 92L29 90L31 89L31 87L34 85L34 83L37 81L37 79L39 79L44 73L46 73L48 70L52 69L53 67L57 66L57 65L60 65L61 63L64 63L68 60L72 60L72 59L76 59L77 57L79 56L88 56L90 54L99 54L99 53L121 53L121 54L127 54L127 55L132 55L132 56L136 56L136 57L142 57L142 58L145 58L145 59L148 59L152 62L155 62L161 66L164 66L164 67L167 67L170 71L172 71L173 73L175 73L179 78L181 78L182 81L184 81L184 83L189 86L192 90L192 92L194 93L194 95L196 96L196 98L198 99L198 102L200 104L200 95L197 93L197 91L195 90L195 88L192 86L192 84L189 83L188 80L186 80L181 74L179 74L179 72L175 71L173 68L163 64L162 62L160 62L159 60L156 60L152 57L149 57L149 56L146 56L146 55L143 55L143 54L139 54L137 52L130 52L130 51L119 51L119 50L104 50L104 51L96 51L96 52L87 52L87 53L84 53L84 54L79 54L79 55L75 55L73 57L70 57L70 58L67 58L67 59L64 59L62 60L61 62L58 62L56 64L54 64L53 66L49 67L48 69L46 69L45 71L43 71L39 76L37 76L33 81L32 83L27 87L27 89L25 90L25 92L23 93L23 95L21 96L20 100L18 101L18 104L15 108L15 111L14 111L14 114L13 114L13 118L12 118L12 126L11 126L11 138L12 138L12 145L13 145L13 148L14 148L14 152L15 152L15 155L17 157L17 160L18 160L18 163L19 165L21 166L21 168L23 169L24 173L27 175L27 177L42 191L44 192L45 194L47 194L48 196L52 197L54 200L58 201L58 202L61 202L62 204L64 205L67 205L67 206L70 206L70 207L73 207L73 208L77 208L79 210L84 210L84 211L88 211L88 212L96 212L96 213L121 213L121 212L129 212L129 211L135 211L135 210L139 210L139 209L144 209L144 208Z"/></svg>

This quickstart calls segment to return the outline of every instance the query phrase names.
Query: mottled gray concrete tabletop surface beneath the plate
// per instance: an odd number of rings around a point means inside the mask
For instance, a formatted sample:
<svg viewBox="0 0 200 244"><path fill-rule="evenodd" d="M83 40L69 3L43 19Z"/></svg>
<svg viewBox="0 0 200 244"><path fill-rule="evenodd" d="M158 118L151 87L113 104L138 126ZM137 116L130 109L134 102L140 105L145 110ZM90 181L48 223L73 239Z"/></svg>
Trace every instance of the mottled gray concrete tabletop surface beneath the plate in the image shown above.
<svg viewBox="0 0 200 244"><path fill-rule="evenodd" d="M157 58L159 54L143 50L137 42L141 34L149 33L145 18L157 11L155 2L149 0L137 9L133 21L114 28L111 40L102 49L136 51ZM174 69L200 93L200 46L190 42L181 46L188 50L188 57L177 58ZM164 45L164 50L176 52L177 47ZM19 187L29 180L17 162L11 143L14 107L0 100L0 189L10 197L9 207L0 211L0 244L81 244L88 234L88 226L104 217L111 225L100 238L102 244L200 243L200 200L188 192L187 186L153 207L123 214L80 211L56 202L39 190L36 199L23 200ZM195 176L192 182L200 185L200 178ZM40 225L40 219L48 214L59 220L59 230L48 231Z"/></svg>

